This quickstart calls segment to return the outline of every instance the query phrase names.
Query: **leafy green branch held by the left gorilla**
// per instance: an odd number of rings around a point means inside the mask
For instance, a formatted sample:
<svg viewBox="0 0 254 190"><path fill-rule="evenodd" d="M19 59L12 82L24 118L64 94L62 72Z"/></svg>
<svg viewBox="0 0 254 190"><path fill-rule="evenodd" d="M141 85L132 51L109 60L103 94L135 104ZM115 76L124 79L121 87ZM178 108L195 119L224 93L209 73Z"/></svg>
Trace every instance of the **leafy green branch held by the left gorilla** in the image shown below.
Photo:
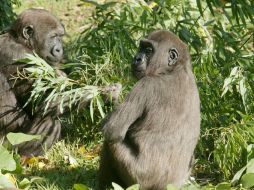
<svg viewBox="0 0 254 190"><path fill-rule="evenodd" d="M57 106L60 113L64 113L66 108L72 110L75 107L75 110L79 110L91 102L92 119L94 106L99 108L101 116L104 117L99 96L102 88L68 78L64 72L50 66L37 54L27 54L25 58L18 61L25 63L26 66L22 71L17 70L17 75L12 76L12 80L33 81L31 95L25 106L31 103L36 110L44 104L44 114L50 107Z"/></svg>

